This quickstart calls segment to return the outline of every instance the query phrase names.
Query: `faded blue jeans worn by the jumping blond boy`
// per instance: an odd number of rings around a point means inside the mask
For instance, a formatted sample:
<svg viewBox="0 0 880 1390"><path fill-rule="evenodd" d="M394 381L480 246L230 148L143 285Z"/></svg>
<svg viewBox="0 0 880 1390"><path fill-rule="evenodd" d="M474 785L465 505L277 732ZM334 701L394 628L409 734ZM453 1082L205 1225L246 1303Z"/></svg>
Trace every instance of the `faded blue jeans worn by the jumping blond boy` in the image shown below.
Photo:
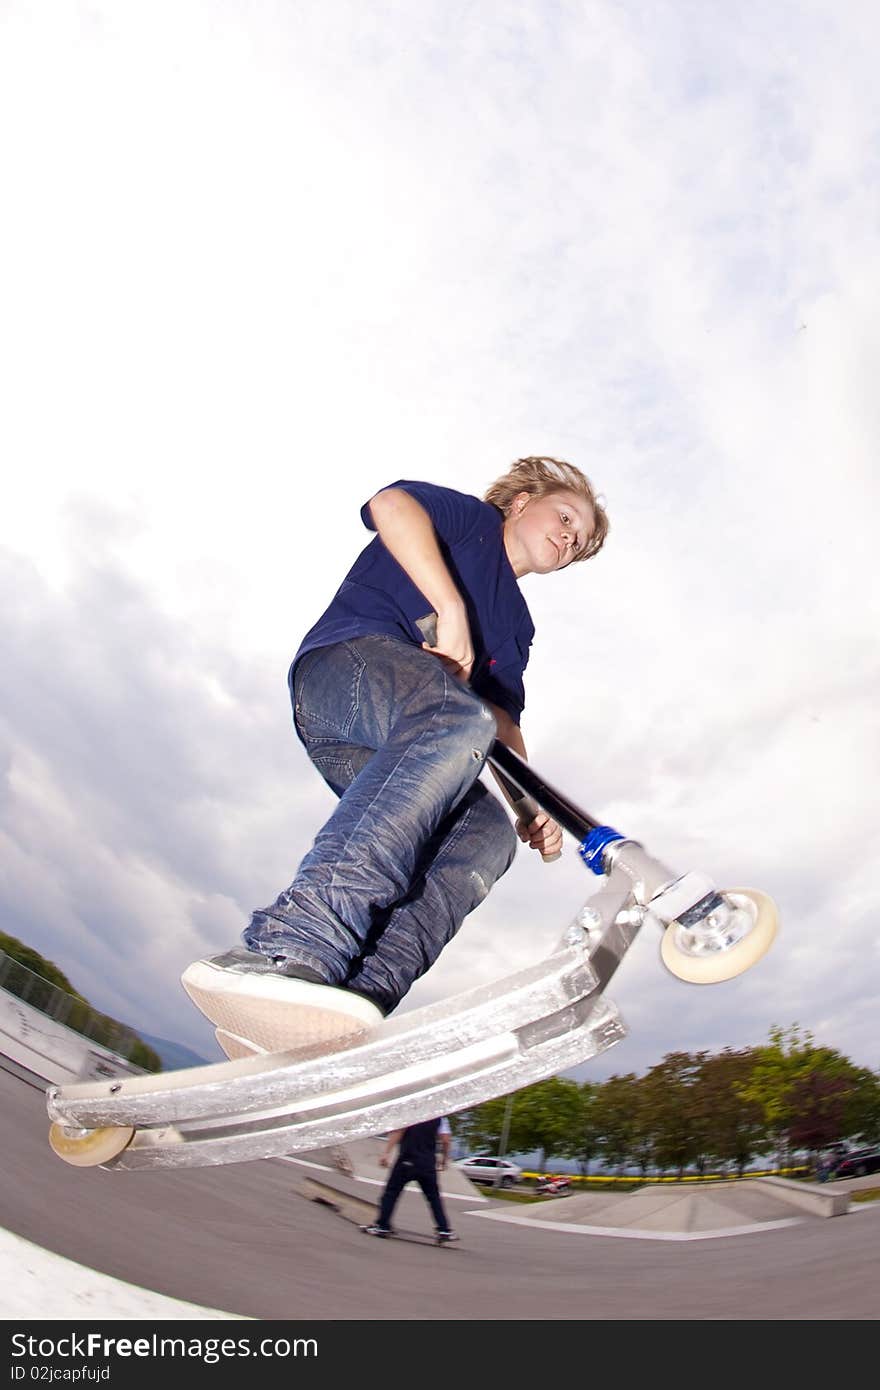
<svg viewBox="0 0 880 1390"><path fill-rule="evenodd" d="M513 862L510 817L477 781L495 720L435 656L382 635L306 653L293 719L339 805L243 941L388 1013Z"/></svg>

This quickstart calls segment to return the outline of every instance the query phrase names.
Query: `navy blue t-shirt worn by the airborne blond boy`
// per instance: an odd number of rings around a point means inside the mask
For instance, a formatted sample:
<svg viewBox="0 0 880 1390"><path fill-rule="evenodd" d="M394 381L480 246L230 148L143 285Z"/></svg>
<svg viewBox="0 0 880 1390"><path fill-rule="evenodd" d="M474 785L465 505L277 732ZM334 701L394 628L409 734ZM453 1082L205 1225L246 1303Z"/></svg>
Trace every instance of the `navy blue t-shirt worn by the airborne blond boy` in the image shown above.
<svg viewBox="0 0 880 1390"><path fill-rule="evenodd" d="M535 628L505 550L502 513L480 498L432 482L389 485L409 492L431 517L449 573L464 599L474 644L471 689L499 705L519 724L525 705L523 673ZM374 531L368 503L360 514ZM416 623L430 610L424 594L375 537L303 638L293 666L317 646L373 632L421 646Z"/></svg>

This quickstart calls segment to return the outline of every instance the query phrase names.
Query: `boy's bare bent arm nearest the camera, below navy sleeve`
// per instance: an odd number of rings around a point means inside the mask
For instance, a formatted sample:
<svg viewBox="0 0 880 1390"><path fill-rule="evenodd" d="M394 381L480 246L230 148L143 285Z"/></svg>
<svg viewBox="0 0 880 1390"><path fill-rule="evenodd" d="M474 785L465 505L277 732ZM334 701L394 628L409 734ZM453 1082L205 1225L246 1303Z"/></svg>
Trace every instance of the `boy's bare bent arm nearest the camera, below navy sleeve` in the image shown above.
<svg viewBox="0 0 880 1390"><path fill-rule="evenodd" d="M437 613L437 642L423 646L448 670L468 681L474 644L467 610L446 567L431 517L403 488L385 488L370 499L370 516L385 549L395 557Z"/></svg>

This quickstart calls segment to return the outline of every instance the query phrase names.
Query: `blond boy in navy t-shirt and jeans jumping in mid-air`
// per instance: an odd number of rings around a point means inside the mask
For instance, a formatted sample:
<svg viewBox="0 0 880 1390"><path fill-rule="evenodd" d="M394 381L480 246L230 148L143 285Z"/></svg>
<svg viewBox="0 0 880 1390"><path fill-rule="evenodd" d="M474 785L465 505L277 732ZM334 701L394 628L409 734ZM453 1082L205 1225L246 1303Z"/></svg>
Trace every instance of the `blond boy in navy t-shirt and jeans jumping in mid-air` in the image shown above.
<svg viewBox="0 0 880 1390"><path fill-rule="evenodd" d="M361 517L377 537L289 673L296 733L339 803L245 949L182 976L231 1056L374 1027L507 870L516 834L478 777L496 737L525 758L519 580L588 559L608 531L589 481L549 457L517 460L482 502L395 482ZM562 845L544 812L516 830L545 858Z"/></svg>

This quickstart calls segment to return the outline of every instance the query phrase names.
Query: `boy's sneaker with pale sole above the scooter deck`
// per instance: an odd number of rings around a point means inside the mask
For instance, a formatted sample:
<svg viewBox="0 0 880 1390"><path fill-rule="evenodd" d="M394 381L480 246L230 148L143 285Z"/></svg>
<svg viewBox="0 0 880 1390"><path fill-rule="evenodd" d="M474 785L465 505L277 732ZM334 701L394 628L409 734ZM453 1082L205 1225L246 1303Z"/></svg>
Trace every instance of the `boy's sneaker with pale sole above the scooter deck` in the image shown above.
<svg viewBox="0 0 880 1390"><path fill-rule="evenodd" d="M309 979L302 977L306 974ZM232 1047L245 1044L236 1056L246 1055L246 1044L254 1051L288 1052L350 1041L382 1022L381 1009L363 994L318 983L309 966L241 947L193 962L181 983L221 1030L224 1051L227 1038Z"/></svg>

